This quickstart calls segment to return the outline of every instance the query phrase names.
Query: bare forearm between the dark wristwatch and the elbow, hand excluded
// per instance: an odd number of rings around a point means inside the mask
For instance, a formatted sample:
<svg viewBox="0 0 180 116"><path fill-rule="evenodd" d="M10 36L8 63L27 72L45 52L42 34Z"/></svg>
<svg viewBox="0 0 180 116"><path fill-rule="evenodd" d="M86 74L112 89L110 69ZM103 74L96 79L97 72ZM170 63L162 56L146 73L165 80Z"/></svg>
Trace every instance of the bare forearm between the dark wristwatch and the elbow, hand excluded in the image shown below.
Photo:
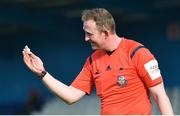
<svg viewBox="0 0 180 116"><path fill-rule="evenodd" d="M74 90L74 88L65 85L52 77L49 73L44 76L42 81L55 95L57 95L67 104L72 104L82 97L81 92L79 93L79 91Z"/></svg>

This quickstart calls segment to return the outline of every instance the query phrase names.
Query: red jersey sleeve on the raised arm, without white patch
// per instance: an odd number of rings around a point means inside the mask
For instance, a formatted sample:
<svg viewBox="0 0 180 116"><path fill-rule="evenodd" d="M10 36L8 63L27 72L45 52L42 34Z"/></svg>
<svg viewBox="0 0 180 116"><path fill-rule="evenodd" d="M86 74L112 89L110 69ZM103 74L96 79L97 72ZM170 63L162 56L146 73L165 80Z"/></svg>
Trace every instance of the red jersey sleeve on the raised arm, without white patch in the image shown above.
<svg viewBox="0 0 180 116"><path fill-rule="evenodd" d="M81 72L72 82L71 86L90 94L93 88L93 77L91 73L91 64L89 58L87 58Z"/></svg>

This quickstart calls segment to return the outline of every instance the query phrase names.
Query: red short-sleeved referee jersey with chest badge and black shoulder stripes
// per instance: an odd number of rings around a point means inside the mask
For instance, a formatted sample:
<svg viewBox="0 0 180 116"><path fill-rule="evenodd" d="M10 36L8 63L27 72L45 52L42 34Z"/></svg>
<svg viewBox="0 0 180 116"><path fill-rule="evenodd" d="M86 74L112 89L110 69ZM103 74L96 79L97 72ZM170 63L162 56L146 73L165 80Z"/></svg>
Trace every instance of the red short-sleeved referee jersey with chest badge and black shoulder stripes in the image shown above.
<svg viewBox="0 0 180 116"><path fill-rule="evenodd" d="M141 46L123 38L110 55L96 50L71 86L90 94L95 85L102 115L151 114L148 88L162 77L154 56Z"/></svg>

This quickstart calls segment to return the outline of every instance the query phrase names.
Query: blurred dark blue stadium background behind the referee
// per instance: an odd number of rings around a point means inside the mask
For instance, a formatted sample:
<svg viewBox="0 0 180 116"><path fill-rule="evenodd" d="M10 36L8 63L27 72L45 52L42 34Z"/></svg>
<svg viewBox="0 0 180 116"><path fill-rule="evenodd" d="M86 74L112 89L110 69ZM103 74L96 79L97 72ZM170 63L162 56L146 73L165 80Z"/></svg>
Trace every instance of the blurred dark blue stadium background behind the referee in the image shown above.
<svg viewBox="0 0 180 116"><path fill-rule="evenodd" d="M117 33L148 47L159 61L175 114L180 114L180 0L0 0L0 114L99 114L93 92L68 106L57 99L22 60L28 45L48 72L66 84L92 53L80 19L104 7ZM159 114L157 106L154 114Z"/></svg>

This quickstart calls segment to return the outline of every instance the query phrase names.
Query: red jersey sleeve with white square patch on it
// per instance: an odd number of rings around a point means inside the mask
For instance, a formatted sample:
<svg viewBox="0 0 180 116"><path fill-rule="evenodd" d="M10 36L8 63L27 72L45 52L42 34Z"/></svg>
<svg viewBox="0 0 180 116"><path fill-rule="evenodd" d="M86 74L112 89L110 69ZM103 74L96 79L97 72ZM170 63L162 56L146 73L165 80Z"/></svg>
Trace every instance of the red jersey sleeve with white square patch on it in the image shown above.
<svg viewBox="0 0 180 116"><path fill-rule="evenodd" d="M139 49L132 58L139 77L149 88L163 81L158 62L147 48Z"/></svg>

